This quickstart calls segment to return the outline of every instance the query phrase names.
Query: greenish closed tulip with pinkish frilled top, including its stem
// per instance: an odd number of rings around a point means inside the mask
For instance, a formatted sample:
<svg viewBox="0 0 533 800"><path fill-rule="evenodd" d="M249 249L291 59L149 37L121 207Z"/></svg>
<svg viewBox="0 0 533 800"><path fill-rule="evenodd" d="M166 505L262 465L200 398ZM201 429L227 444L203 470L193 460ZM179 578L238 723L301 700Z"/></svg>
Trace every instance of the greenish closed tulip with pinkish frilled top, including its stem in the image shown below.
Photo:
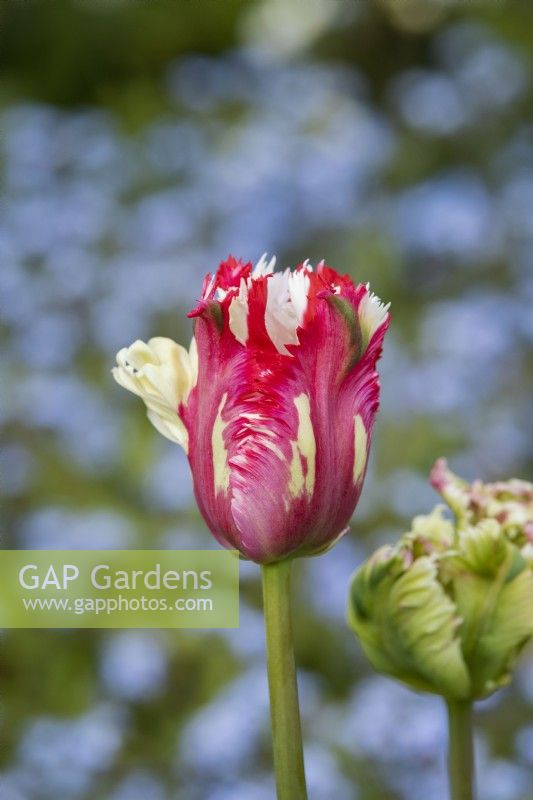
<svg viewBox="0 0 533 800"><path fill-rule="evenodd" d="M533 486L457 478L439 460L450 503L416 517L355 573L349 622L380 672L442 695L450 718L453 800L472 798L471 706L509 682L533 637Z"/></svg>

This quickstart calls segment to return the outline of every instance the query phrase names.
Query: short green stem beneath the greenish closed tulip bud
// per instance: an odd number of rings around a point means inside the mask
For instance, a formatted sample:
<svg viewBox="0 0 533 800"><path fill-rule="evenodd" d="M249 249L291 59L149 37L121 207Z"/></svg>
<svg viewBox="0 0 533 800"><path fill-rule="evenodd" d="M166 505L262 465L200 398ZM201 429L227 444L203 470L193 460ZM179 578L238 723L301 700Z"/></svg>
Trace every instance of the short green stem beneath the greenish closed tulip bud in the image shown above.
<svg viewBox="0 0 533 800"><path fill-rule="evenodd" d="M472 703L448 700L450 800L474 800Z"/></svg>

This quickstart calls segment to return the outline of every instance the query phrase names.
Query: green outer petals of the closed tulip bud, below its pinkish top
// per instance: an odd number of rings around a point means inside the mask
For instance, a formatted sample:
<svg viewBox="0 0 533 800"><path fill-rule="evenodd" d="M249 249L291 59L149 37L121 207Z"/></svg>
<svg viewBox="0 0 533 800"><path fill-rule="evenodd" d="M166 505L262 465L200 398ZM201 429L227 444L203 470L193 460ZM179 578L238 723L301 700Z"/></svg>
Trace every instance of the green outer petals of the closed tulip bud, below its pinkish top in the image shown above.
<svg viewBox="0 0 533 800"><path fill-rule="evenodd" d="M352 579L349 623L375 669L453 700L507 683L533 636L530 549L495 519L417 517Z"/></svg>

